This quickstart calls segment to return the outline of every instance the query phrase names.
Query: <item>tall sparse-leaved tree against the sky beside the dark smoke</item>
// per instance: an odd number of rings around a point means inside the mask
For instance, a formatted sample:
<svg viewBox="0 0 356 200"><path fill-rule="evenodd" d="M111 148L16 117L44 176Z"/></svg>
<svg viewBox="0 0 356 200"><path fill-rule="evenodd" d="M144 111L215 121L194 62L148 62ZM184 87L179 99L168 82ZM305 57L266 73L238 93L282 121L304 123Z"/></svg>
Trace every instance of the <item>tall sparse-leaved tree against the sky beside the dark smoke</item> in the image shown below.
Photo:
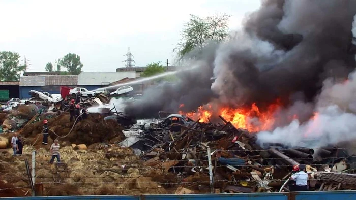
<svg viewBox="0 0 356 200"><path fill-rule="evenodd" d="M209 41L222 41L228 35L228 19L230 15L217 14L205 18L190 15L190 20L182 31L182 39L177 51L180 58L197 48L202 50Z"/></svg>

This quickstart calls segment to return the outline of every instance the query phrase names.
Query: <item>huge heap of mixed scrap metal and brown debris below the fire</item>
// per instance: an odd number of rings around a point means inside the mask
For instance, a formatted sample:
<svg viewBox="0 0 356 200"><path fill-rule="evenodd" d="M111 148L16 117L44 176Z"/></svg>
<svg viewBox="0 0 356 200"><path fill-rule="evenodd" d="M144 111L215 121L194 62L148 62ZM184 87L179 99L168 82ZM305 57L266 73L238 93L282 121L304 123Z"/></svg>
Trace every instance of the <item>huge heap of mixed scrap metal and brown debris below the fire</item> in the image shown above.
<svg viewBox="0 0 356 200"><path fill-rule="evenodd" d="M51 116L49 144L60 140L61 163L48 163L49 145L41 144L42 123L34 120L43 115L21 115L27 119L17 131L25 138L24 153L13 157L10 148L0 154L0 196L31 195L24 160L31 160L34 150L35 188L45 196L278 192L292 166L299 164L307 165L310 190L356 187L348 149L260 146L255 134L221 116L224 124L171 114L130 129L100 114L92 113L75 126L66 113ZM9 132L0 140L9 147L12 136ZM288 191L287 186L282 190Z"/></svg>

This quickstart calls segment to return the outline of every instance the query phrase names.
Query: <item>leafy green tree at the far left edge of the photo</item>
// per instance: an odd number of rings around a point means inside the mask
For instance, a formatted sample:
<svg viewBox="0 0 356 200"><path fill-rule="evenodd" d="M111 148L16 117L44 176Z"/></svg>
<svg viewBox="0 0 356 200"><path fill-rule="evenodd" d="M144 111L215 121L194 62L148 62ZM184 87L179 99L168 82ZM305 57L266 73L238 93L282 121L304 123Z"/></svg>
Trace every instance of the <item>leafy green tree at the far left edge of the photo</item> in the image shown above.
<svg viewBox="0 0 356 200"><path fill-rule="evenodd" d="M24 65L20 65L20 56L16 52L0 51L0 80L18 81L21 71L25 70Z"/></svg>

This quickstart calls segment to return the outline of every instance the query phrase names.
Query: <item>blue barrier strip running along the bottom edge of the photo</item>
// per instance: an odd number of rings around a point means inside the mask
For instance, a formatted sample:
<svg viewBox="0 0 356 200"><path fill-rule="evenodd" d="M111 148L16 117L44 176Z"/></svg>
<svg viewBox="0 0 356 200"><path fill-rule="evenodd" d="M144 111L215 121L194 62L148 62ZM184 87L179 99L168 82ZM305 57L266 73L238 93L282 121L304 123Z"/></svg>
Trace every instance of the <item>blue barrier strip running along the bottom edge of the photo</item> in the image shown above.
<svg viewBox="0 0 356 200"><path fill-rule="evenodd" d="M351 200L356 191L322 191L290 193L240 193L240 194L186 194L186 195L140 195L140 196L43 196L14 197L2 200Z"/></svg>

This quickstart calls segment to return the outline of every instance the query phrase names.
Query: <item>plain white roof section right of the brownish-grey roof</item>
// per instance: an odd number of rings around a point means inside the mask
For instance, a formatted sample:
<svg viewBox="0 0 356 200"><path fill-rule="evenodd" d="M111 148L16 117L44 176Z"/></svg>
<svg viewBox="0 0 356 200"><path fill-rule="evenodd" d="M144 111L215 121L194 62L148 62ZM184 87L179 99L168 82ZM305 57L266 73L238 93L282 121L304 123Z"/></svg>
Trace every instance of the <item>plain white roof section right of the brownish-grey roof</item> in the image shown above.
<svg viewBox="0 0 356 200"><path fill-rule="evenodd" d="M78 85L109 85L124 78L136 78L136 72L81 72Z"/></svg>

